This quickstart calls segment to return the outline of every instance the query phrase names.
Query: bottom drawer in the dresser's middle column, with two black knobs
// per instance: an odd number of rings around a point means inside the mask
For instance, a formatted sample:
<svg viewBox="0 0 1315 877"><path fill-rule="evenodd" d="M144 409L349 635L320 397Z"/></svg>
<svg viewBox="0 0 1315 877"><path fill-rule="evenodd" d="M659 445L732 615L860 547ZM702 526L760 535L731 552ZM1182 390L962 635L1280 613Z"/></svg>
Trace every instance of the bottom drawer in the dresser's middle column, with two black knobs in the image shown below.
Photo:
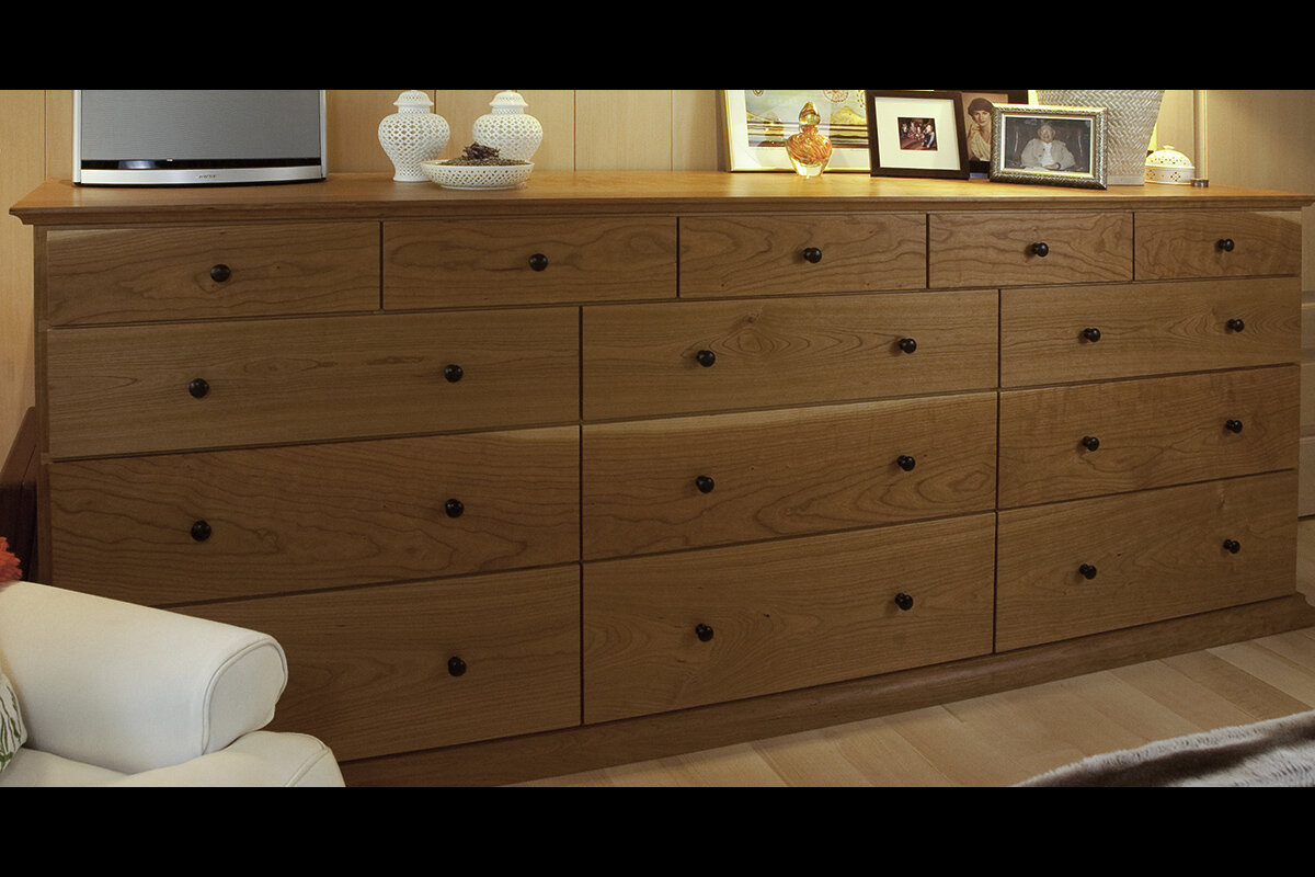
<svg viewBox="0 0 1315 877"><path fill-rule="evenodd" d="M988 653L993 577L993 514L586 563L584 719Z"/></svg>

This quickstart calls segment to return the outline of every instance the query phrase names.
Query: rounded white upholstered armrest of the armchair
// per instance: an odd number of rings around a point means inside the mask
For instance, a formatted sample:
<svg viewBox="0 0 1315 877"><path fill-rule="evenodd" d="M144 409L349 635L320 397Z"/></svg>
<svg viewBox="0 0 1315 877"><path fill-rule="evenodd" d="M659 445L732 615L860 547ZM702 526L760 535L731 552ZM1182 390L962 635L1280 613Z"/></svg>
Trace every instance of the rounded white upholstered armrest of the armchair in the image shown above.
<svg viewBox="0 0 1315 877"><path fill-rule="evenodd" d="M0 585L0 664L28 746L122 773L264 727L288 680L266 634L26 581Z"/></svg>

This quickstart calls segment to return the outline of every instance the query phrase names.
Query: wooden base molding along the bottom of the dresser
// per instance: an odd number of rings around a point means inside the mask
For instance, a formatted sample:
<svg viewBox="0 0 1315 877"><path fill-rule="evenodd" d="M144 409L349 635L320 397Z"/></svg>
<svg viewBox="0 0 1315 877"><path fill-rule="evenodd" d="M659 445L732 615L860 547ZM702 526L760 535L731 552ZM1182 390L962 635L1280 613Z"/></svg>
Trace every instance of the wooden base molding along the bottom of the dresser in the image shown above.
<svg viewBox="0 0 1315 877"><path fill-rule="evenodd" d="M348 786L483 786L648 761L994 694L1315 625L1302 594L834 685L343 763Z"/></svg>

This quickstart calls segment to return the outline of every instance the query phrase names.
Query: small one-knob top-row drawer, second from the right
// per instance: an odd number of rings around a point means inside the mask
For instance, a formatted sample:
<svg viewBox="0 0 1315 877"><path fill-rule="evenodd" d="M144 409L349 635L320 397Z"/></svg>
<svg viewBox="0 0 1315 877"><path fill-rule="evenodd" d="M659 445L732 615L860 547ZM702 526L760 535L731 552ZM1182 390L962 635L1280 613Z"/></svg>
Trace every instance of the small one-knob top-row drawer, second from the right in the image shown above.
<svg viewBox="0 0 1315 877"><path fill-rule="evenodd" d="M932 288L1132 280L1131 213L932 213L927 222Z"/></svg>

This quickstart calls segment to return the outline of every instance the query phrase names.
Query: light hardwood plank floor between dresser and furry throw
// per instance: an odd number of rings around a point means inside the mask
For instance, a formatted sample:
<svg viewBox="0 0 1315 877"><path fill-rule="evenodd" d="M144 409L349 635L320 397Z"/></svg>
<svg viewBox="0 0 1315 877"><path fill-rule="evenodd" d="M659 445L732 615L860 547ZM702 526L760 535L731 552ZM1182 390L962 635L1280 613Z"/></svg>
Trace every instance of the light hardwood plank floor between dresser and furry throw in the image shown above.
<svg viewBox="0 0 1315 877"><path fill-rule="evenodd" d="M1298 588L1315 604L1315 518ZM1005 786L1089 755L1315 707L1315 627L525 786Z"/></svg>

